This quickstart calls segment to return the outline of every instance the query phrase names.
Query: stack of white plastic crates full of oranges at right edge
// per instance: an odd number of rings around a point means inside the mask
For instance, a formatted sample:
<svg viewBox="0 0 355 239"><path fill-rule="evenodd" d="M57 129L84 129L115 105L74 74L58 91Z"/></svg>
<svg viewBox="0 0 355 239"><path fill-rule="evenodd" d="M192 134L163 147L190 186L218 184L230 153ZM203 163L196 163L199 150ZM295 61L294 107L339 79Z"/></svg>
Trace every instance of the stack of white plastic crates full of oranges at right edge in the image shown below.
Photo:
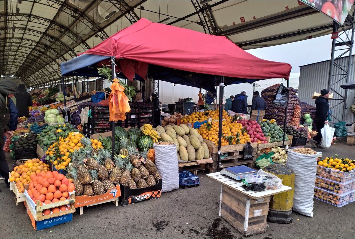
<svg viewBox="0 0 355 239"><path fill-rule="evenodd" d="M337 207L354 202L354 171L343 172L317 165L314 197Z"/></svg>

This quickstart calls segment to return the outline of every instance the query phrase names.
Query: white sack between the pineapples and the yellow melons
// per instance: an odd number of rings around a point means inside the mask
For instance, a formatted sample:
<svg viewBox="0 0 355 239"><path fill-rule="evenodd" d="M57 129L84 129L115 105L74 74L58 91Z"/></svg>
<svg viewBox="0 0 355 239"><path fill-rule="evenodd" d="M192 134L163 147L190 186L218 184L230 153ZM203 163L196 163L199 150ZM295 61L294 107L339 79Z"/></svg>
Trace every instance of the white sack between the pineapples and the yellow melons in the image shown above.
<svg viewBox="0 0 355 239"><path fill-rule="evenodd" d="M179 164L176 143L171 145L153 144L155 165L162 175L162 192L170 192L179 188Z"/></svg>

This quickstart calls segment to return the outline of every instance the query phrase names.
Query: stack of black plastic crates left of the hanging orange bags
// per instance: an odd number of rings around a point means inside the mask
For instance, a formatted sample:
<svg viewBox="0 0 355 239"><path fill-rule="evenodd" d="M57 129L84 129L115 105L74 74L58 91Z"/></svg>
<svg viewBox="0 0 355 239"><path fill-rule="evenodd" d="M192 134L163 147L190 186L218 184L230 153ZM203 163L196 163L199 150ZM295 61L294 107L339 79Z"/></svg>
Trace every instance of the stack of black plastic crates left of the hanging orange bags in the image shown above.
<svg viewBox="0 0 355 239"><path fill-rule="evenodd" d="M91 110L91 118L83 125L82 132L85 136L89 137L90 134L98 134L111 131L110 111L108 106L82 106L82 108L89 107ZM81 110L82 110L81 108ZM118 121L116 126L125 128L124 121Z"/></svg>

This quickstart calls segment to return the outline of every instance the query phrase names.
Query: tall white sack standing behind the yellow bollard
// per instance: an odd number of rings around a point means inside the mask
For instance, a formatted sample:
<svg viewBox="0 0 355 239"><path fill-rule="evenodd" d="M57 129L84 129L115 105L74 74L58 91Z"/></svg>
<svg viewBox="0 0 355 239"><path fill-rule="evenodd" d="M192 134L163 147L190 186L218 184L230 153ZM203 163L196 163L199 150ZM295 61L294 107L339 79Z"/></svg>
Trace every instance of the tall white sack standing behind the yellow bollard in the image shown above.
<svg viewBox="0 0 355 239"><path fill-rule="evenodd" d="M293 209L296 212L313 217L313 196L316 184L317 158L320 154L300 154L289 150L287 163L295 172Z"/></svg>

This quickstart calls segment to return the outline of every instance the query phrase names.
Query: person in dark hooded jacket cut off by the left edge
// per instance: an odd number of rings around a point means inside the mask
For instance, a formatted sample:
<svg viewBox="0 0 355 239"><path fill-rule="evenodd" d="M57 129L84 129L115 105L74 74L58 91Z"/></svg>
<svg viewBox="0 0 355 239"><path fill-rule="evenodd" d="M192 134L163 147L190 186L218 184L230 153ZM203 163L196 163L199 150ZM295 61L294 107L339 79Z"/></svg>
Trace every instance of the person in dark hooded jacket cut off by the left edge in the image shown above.
<svg viewBox="0 0 355 239"><path fill-rule="evenodd" d="M13 80L1 80L0 81L0 174L5 179L5 184L10 187L9 183L9 165L6 163L4 152L4 134L9 137L11 132L7 128L7 123L10 118L9 101L16 92L16 84ZM18 101L17 101L18 102Z"/></svg>

